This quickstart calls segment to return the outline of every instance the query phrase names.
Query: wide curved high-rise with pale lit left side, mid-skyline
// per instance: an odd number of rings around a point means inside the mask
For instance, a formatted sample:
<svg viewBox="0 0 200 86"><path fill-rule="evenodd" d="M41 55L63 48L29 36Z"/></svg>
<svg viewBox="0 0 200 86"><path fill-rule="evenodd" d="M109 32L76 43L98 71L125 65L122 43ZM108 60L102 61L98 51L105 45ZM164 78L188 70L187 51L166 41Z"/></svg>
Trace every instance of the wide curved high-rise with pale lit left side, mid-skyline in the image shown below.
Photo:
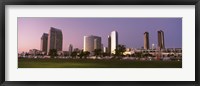
<svg viewBox="0 0 200 86"><path fill-rule="evenodd" d="M101 37L99 36L84 36L83 50L93 53L95 49L101 49Z"/></svg>

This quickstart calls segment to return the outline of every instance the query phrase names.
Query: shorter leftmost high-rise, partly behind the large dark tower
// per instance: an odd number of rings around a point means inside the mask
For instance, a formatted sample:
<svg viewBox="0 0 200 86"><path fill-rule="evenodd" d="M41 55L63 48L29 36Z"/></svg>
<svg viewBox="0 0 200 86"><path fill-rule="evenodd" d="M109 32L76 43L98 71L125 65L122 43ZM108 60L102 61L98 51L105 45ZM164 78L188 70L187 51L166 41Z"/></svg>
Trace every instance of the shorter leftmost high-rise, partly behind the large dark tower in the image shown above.
<svg viewBox="0 0 200 86"><path fill-rule="evenodd" d="M47 53L47 45L48 45L48 34L43 33L41 37L40 50Z"/></svg>

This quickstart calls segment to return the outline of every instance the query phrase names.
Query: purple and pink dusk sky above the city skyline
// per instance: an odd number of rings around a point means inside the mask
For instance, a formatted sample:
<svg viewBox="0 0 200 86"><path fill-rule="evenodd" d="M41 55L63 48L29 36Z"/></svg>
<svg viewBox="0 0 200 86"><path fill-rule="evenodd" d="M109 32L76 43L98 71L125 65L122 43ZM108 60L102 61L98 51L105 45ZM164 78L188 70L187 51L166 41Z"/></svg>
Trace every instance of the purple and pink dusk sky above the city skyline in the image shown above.
<svg viewBox="0 0 200 86"><path fill-rule="evenodd" d="M119 44L127 48L141 48L144 32L149 32L150 46L157 45L157 31L163 30L166 48L182 48L182 18L60 18L60 17L19 17L18 52L40 49L40 38L50 27L62 30L63 51L69 44L83 48L83 36L96 35L107 46L107 36L116 30Z"/></svg>

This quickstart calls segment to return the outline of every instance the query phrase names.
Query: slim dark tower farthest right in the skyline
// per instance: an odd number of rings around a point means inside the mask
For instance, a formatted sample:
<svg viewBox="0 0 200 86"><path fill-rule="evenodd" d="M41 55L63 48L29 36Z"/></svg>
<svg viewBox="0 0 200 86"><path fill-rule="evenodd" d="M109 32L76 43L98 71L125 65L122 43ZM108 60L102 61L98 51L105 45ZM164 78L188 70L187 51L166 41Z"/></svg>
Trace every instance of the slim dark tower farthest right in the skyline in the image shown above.
<svg viewBox="0 0 200 86"><path fill-rule="evenodd" d="M164 32L162 30L158 31L158 48L165 49Z"/></svg>

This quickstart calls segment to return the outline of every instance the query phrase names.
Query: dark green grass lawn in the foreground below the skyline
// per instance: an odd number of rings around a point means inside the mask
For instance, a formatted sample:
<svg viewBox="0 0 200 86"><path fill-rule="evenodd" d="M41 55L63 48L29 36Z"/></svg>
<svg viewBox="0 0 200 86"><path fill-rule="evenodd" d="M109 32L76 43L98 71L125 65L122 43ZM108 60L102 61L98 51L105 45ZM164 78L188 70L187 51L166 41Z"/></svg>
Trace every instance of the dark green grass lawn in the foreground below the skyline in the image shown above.
<svg viewBox="0 0 200 86"><path fill-rule="evenodd" d="M182 68L182 62L19 58L18 68Z"/></svg>

